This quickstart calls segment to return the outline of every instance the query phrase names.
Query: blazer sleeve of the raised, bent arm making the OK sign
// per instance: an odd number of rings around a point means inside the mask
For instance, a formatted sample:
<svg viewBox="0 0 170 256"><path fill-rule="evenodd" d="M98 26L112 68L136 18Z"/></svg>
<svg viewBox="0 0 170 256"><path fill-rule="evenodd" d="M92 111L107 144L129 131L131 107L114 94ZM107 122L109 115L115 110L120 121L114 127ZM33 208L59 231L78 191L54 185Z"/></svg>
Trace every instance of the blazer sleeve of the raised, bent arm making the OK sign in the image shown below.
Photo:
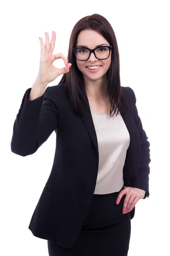
<svg viewBox="0 0 170 256"><path fill-rule="evenodd" d="M28 99L30 91L31 88L28 88L23 96L11 139L11 151L23 157L34 154L58 125L57 106L51 100L51 87L32 101Z"/></svg>

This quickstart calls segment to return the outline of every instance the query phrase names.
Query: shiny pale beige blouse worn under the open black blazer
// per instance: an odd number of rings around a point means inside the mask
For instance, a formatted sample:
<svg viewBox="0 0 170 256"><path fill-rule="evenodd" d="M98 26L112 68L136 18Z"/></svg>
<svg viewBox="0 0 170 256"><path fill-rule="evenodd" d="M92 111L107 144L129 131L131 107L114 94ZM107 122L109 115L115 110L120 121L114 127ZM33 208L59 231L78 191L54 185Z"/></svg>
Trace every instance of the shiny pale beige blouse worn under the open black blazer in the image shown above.
<svg viewBox="0 0 170 256"><path fill-rule="evenodd" d="M109 113L91 110L99 147L99 169L94 194L118 192L123 184L123 166L130 135L120 113L110 117Z"/></svg>

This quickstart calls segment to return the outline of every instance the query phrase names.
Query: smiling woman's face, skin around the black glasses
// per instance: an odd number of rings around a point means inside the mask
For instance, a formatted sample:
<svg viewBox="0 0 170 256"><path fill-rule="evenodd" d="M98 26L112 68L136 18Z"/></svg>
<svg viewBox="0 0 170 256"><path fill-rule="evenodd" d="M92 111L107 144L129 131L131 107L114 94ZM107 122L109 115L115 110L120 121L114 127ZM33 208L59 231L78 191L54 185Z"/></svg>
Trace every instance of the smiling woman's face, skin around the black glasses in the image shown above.
<svg viewBox="0 0 170 256"><path fill-rule="evenodd" d="M89 49L94 49L100 44L101 46L110 46L108 41L95 30L82 30L78 35L76 47L83 46ZM77 67L82 72L85 80L103 79L106 77L106 73L111 64L111 53L109 55L109 58L105 60L98 60L94 56L94 53L91 53L90 58L87 61L78 61L76 59L76 62ZM88 68L89 66L99 66L99 68L94 71L90 70Z"/></svg>

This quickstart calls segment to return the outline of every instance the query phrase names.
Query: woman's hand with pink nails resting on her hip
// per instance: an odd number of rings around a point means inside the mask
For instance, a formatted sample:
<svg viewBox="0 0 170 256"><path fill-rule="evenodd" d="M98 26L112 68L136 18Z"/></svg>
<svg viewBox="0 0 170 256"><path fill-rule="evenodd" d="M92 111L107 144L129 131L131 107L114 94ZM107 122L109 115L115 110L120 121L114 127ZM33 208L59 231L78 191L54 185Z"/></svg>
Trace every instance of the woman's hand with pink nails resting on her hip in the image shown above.
<svg viewBox="0 0 170 256"><path fill-rule="evenodd" d="M137 188L132 188L132 187L126 187L124 186L125 189L123 189L116 200L116 204L119 204L121 198L123 195L125 196L125 200L123 203L123 209L122 209L122 213L125 214L127 212L130 212L133 207L135 207L136 203L144 198L145 195L145 191L143 189L137 189ZM117 203L117 201L119 201Z"/></svg>

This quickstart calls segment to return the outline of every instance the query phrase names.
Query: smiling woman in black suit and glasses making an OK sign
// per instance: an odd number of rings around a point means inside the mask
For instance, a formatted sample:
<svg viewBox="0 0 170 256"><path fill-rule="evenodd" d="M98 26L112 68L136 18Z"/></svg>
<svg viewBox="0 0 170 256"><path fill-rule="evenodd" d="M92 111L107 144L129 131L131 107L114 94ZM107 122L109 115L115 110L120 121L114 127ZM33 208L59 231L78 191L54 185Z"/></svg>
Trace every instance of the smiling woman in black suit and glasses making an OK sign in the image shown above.
<svg viewBox="0 0 170 256"><path fill-rule="evenodd" d="M39 73L23 96L11 140L11 151L26 156L57 134L29 229L48 240L49 256L126 256L135 205L149 196L150 143L136 97L120 85L116 37L104 17L77 22L68 58L53 55L55 39L53 32L49 44L45 33L44 46L40 38ZM62 69L52 65L58 58ZM62 74L59 85L47 87Z"/></svg>

